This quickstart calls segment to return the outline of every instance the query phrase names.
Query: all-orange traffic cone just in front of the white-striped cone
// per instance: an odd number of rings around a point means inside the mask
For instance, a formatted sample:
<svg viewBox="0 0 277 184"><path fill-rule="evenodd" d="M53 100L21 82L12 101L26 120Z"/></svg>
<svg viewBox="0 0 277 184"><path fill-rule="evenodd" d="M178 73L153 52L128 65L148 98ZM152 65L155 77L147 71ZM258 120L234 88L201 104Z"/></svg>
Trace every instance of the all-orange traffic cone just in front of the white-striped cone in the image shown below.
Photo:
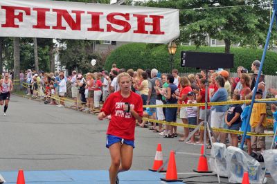
<svg viewBox="0 0 277 184"><path fill-rule="evenodd" d="M162 181L182 181L177 177L177 169L175 162L175 151L170 151L170 157L168 162L168 171L166 172L166 178L161 178Z"/></svg>

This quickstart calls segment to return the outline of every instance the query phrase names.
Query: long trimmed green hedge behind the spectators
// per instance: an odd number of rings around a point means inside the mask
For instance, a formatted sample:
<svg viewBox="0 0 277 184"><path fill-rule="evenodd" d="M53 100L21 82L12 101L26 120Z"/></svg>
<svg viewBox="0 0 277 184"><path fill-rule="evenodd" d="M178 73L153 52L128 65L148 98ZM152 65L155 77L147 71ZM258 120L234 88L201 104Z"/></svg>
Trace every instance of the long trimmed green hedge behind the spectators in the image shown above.
<svg viewBox="0 0 277 184"><path fill-rule="evenodd" d="M177 53L174 55L173 68L177 68L180 73L196 72L195 68L181 67L181 51L195 51L208 53L224 53L224 47L195 47L195 46L179 46ZM251 71L251 63L262 58L261 49L253 48L234 48L231 47L231 53L234 54L234 68L231 72L236 72L238 66L244 66ZM275 75L276 73L277 53L267 51L265 57L265 64L262 69L263 73L267 75ZM157 47L148 46L148 44L127 44L120 46L114 50L105 62L105 69L110 70L111 64L116 63L118 68L157 68L162 73L170 72L170 55L166 45L159 45Z"/></svg>

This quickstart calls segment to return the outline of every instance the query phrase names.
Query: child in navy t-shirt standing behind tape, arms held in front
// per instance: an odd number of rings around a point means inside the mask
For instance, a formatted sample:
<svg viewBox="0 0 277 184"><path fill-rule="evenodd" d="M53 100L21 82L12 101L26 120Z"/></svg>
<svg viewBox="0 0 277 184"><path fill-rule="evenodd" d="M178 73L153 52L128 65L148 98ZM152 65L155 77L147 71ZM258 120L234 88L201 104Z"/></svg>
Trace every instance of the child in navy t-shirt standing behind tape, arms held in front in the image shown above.
<svg viewBox="0 0 277 184"><path fill-rule="evenodd" d="M240 100L240 95L234 94L233 100ZM242 113L242 107L240 104L231 104L229 106L228 111L225 114L225 122L228 125L228 129L230 130L240 130L241 122L240 114ZM231 145L233 147L238 147L238 135L237 134L231 134Z"/></svg>

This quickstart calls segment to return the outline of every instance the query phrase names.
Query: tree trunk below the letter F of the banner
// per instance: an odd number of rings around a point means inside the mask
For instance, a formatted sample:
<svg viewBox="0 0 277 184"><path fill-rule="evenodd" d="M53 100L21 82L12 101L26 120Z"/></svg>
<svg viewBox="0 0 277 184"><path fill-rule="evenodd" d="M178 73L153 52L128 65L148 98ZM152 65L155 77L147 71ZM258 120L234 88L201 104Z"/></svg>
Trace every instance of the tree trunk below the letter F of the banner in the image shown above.
<svg viewBox="0 0 277 184"><path fill-rule="evenodd" d="M14 80L19 81L19 73L20 73L20 39L19 37L14 37L13 38L13 50L14 50ZM17 82L18 84L18 82ZM15 91L20 90L19 85L15 85L14 87Z"/></svg>

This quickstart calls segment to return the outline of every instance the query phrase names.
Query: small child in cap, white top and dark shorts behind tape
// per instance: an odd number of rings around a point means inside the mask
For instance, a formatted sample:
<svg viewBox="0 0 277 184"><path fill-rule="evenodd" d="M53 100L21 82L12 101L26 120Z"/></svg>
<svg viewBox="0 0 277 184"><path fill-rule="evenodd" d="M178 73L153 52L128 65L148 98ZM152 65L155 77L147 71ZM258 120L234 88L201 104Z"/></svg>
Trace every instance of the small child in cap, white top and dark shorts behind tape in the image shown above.
<svg viewBox="0 0 277 184"><path fill-rule="evenodd" d="M196 104L195 93L193 91L188 92L188 102L187 104ZM188 113L188 125L197 125L197 107L187 107L186 111ZM193 129L190 129L193 131ZM195 134L191 136L190 141L187 144L195 143Z"/></svg>

